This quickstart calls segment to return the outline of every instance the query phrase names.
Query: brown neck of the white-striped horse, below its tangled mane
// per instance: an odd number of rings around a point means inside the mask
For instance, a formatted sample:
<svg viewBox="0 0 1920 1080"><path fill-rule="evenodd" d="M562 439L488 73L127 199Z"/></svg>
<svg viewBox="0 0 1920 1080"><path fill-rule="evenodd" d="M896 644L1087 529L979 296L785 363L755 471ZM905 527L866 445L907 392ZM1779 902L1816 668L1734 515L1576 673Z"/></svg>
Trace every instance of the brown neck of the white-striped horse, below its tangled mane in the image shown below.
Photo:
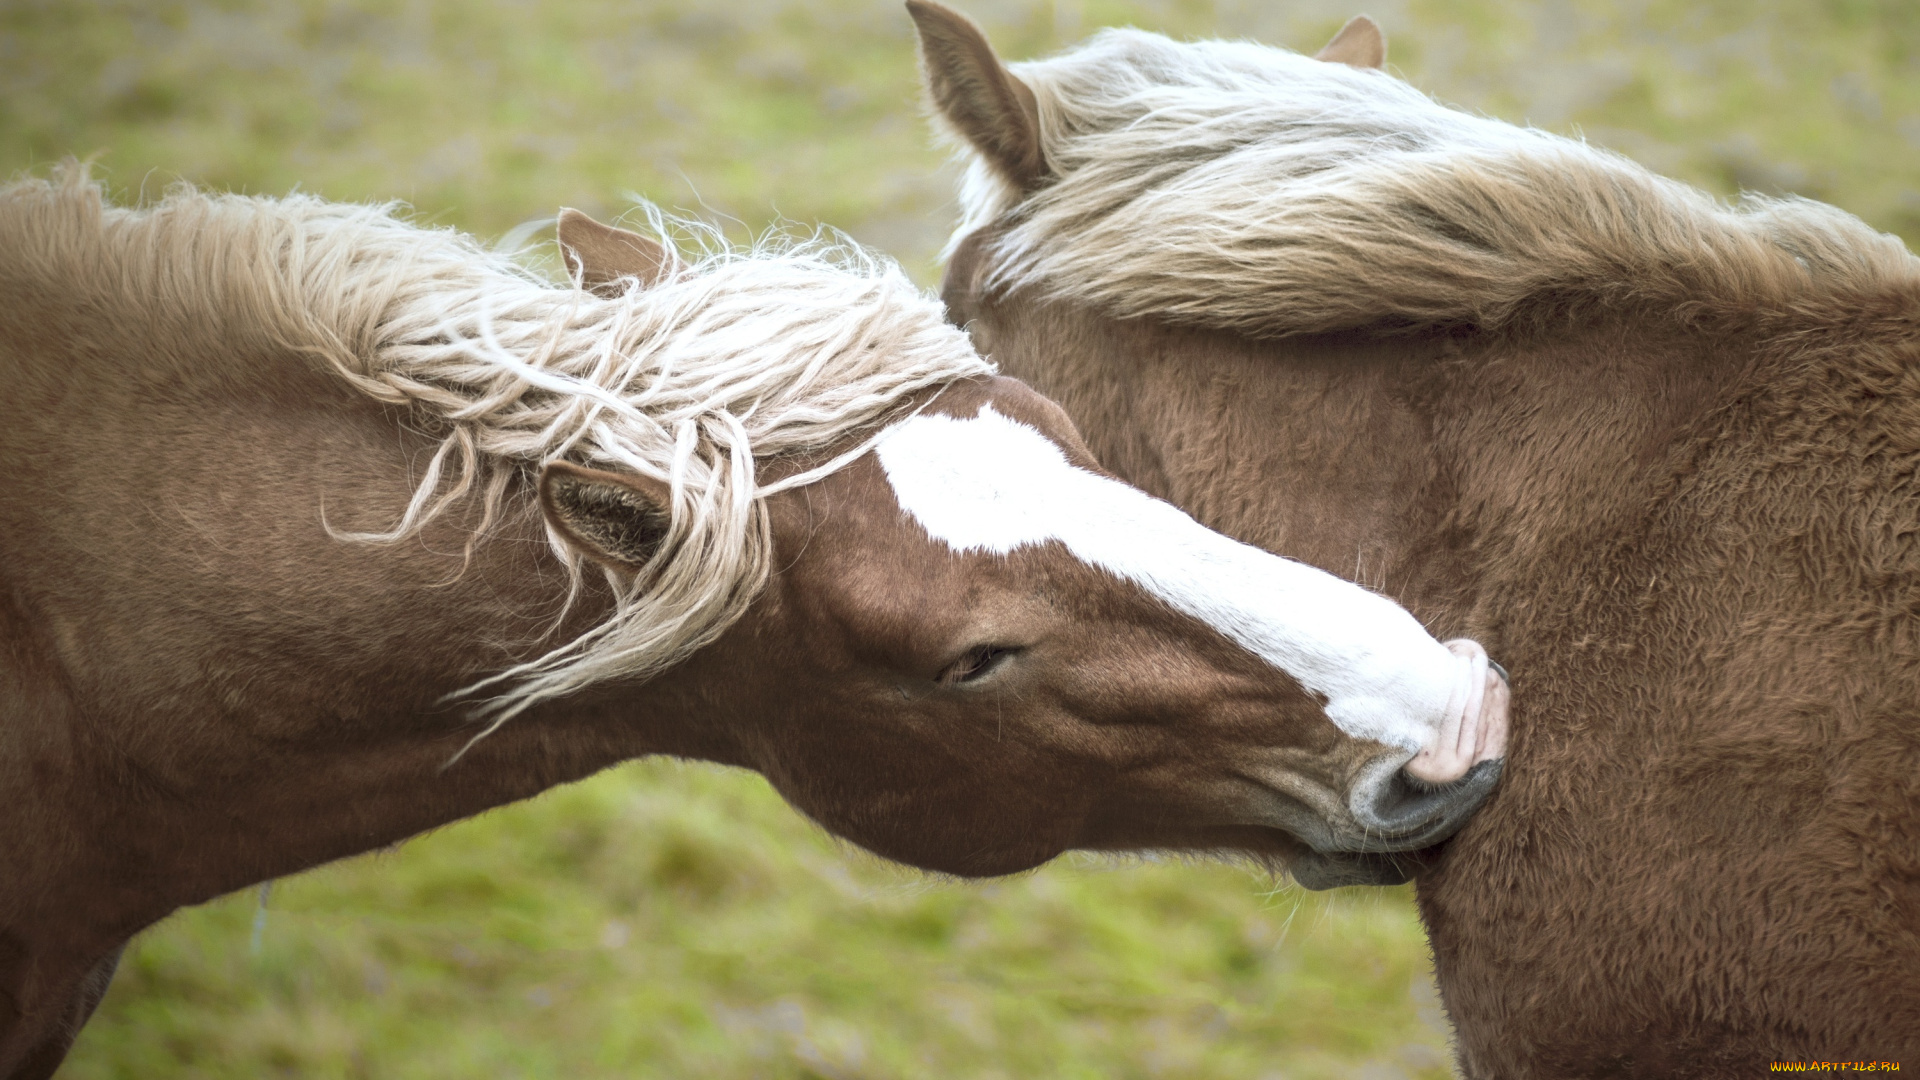
<svg viewBox="0 0 1920 1080"><path fill-rule="evenodd" d="M474 507L399 544L328 536L388 528L434 442L317 363L13 334L0 379L0 938L100 951L626 757L728 759L682 736L703 705L662 678L551 701L449 767L480 726L444 696L609 596L589 578L559 619L520 479L470 563Z"/></svg>

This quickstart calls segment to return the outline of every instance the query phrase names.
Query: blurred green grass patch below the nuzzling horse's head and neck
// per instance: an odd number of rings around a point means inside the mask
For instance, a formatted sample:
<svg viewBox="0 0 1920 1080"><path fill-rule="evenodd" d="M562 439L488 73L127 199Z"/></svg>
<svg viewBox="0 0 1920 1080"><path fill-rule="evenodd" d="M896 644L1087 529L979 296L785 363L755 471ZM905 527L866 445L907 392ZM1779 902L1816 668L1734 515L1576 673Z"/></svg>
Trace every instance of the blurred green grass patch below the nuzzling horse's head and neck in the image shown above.
<svg viewBox="0 0 1920 1080"><path fill-rule="evenodd" d="M1405 897L945 884L636 763L144 936L67 1076L1446 1076Z"/></svg>

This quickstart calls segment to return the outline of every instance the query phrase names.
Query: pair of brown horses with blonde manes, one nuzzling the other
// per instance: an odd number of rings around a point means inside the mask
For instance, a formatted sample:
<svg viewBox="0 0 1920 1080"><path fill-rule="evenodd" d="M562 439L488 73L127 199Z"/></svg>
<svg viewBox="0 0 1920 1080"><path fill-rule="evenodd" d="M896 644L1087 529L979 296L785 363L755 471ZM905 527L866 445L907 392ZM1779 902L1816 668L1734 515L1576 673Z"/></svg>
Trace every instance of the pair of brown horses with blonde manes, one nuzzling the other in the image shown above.
<svg viewBox="0 0 1920 1080"><path fill-rule="evenodd" d="M1008 67L910 12L945 311L0 192L0 1076L173 907L641 753L960 874L1417 874L1471 1076L1914 1057L1914 259L1432 106L1369 23Z"/></svg>

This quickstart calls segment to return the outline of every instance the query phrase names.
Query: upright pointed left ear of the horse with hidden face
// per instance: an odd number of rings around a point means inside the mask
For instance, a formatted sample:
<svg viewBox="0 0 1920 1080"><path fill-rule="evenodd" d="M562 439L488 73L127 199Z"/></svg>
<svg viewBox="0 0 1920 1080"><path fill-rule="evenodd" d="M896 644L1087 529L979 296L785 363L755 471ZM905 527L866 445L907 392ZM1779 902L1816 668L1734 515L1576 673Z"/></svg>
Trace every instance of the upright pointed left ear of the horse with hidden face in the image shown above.
<svg viewBox="0 0 1920 1080"><path fill-rule="evenodd" d="M1041 108L966 15L931 0L906 0L920 31L920 60L933 108L1020 190L1046 175Z"/></svg>

